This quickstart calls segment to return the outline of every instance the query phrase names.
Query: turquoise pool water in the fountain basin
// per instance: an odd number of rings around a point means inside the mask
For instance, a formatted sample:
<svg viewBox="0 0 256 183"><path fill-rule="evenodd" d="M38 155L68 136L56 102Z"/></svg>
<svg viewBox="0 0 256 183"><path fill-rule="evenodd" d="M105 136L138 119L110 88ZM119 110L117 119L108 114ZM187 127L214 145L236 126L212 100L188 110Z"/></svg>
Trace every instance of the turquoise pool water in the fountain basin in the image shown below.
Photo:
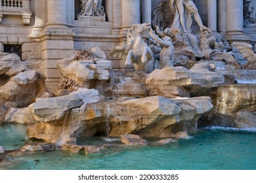
<svg viewBox="0 0 256 183"><path fill-rule="evenodd" d="M25 131L26 127L22 125L0 125L0 146L5 149L22 146L27 139ZM256 131L212 127L200 129L189 139L161 146L150 143L144 147L110 148L89 155L56 150L29 156L7 156L0 161L0 169L255 170L255 140ZM101 138L78 142L109 143Z"/></svg>

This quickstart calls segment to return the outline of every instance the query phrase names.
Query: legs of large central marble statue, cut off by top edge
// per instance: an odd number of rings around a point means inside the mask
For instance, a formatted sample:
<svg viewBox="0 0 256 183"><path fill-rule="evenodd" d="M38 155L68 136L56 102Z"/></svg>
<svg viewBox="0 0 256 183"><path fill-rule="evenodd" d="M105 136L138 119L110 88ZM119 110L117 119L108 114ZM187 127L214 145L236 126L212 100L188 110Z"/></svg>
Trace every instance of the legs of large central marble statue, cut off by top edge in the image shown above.
<svg viewBox="0 0 256 183"><path fill-rule="evenodd" d="M208 29L203 25L198 13L198 8L196 8L196 5L192 0L170 0L169 5L175 14L171 28L179 28L183 31L183 33L188 33L192 25L193 14L200 27L200 30L203 31Z"/></svg>

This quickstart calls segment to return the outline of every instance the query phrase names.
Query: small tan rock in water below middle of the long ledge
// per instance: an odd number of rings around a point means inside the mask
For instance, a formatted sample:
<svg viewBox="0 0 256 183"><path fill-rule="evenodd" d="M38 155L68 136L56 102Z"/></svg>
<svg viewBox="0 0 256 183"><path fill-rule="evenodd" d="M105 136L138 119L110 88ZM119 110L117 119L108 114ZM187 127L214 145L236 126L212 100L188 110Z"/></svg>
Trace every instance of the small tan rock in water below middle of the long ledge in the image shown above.
<svg viewBox="0 0 256 183"><path fill-rule="evenodd" d="M121 135L121 142L129 146L146 146L148 142L139 135L125 134Z"/></svg>

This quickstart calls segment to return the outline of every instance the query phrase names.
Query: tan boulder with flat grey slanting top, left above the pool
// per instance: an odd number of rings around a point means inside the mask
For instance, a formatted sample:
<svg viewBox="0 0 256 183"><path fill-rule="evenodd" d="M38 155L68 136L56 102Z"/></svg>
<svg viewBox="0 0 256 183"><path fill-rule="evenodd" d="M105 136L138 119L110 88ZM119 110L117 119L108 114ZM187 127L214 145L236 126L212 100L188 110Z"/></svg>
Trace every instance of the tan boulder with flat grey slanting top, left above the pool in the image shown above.
<svg viewBox="0 0 256 183"><path fill-rule="evenodd" d="M58 142L61 146L72 139L66 133L74 133L74 131L70 132L70 123L77 122L68 121L72 110L98 101L100 101L98 91L87 88L79 88L66 96L37 98L35 103L29 106L33 118L28 123L27 134L29 137L43 139L47 142Z"/></svg>

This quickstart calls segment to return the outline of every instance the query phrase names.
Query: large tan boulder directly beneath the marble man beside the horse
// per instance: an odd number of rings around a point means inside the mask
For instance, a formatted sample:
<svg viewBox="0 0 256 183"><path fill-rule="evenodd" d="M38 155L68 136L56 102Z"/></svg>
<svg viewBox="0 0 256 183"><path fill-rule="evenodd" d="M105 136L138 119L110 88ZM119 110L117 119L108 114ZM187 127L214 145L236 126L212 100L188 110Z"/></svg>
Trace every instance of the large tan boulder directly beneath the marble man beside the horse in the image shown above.
<svg viewBox="0 0 256 183"><path fill-rule="evenodd" d="M144 79L149 95L165 97L209 95L223 83L224 76L212 72L208 63L197 63L190 70L184 67L155 69Z"/></svg>

